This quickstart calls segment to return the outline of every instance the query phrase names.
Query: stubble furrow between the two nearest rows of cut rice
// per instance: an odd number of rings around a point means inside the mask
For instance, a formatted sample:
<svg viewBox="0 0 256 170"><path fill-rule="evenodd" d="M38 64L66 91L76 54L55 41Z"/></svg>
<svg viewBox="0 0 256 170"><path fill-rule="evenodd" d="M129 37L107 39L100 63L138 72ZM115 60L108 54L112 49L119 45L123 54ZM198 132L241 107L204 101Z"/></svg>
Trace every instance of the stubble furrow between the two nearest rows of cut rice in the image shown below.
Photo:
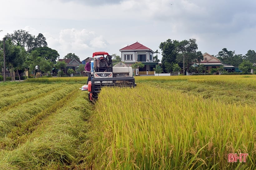
<svg viewBox="0 0 256 170"><path fill-rule="evenodd" d="M12 150L23 142L26 142L30 134L37 129L37 127L44 121L44 119L54 113L57 110L62 109L62 107L70 102L70 99L75 95L77 89L68 93L64 98L54 103L52 106L42 110L40 113L22 122L20 125L15 126L10 133L7 134L0 142L1 149Z"/></svg>

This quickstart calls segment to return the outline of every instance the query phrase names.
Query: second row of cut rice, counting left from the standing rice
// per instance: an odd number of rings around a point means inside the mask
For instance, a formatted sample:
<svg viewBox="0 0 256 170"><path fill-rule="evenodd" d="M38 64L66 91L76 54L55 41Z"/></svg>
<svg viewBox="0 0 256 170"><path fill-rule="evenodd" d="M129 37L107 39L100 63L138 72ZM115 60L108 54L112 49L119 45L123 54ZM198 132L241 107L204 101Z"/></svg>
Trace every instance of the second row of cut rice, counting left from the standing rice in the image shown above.
<svg viewBox="0 0 256 170"><path fill-rule="evenodd" d="M78 85L63 85L62 88L47 96L39 97L31 102L19 105L18 108L3 112L0 117L0 137L6 136L12 128L21 126L22 123L52 106L57 100L61 100L67 93L78 87Z"/></svg>

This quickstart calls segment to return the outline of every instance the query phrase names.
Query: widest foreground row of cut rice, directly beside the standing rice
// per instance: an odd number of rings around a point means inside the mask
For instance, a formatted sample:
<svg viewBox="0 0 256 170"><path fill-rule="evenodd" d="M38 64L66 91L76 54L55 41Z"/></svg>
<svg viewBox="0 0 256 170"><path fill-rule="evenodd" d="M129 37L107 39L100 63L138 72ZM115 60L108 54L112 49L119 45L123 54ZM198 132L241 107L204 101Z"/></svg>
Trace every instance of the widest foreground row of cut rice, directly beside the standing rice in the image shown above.
<svg viewBox="0 0 256 170"><path fill-rule="evenodd" d="M86 139L91 105L78 90L69 102L47 117L27 142L12 151L0 153L0 169L84 169L78 153ZM57 101L57 100L55 100Z"/></svg>

